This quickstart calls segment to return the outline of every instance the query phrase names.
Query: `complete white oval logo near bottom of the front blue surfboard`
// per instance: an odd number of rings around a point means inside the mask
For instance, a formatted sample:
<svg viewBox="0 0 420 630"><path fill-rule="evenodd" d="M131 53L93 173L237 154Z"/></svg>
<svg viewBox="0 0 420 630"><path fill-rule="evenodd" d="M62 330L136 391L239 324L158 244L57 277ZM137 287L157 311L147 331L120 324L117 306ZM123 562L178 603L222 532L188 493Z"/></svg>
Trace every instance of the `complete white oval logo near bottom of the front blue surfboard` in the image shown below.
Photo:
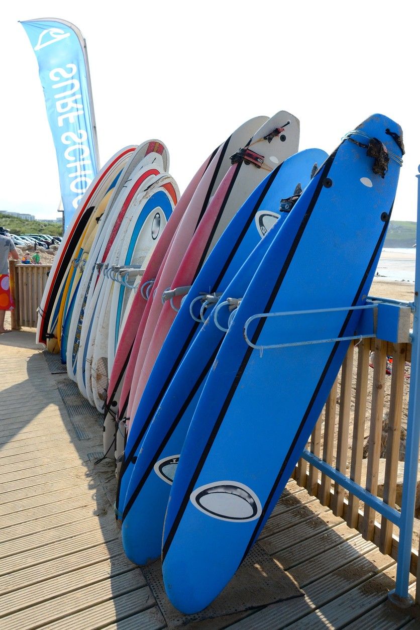
<svg viewBox="0 0 420 630"><path fill-rule="evenodd" d="M207 483L194 490L190 500L200 512L230 522L255 520L261 514L258 496L239 481Z"/></svg>

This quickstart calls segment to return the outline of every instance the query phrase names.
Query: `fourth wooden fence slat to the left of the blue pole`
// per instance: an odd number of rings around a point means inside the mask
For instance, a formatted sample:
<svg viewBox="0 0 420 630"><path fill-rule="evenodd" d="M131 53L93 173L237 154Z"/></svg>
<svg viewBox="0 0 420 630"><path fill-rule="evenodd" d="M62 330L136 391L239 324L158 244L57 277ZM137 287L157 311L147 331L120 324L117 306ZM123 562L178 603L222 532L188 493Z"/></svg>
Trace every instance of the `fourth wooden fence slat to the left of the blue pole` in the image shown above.
<svg viewBox="0 0 420 630"><path fill-rule="evenodd" d="M347 454L349 448L349 423L351 404L351 384L353 381L353 355L355 352L354 343L350 343L349 349L341 367L341 387L340 387L340 408L338 416L338 443L336 469L340 473L346 474ZM344 488L337 483L334 484L334 501L332 510L336 516L343 515Z"/></svg>

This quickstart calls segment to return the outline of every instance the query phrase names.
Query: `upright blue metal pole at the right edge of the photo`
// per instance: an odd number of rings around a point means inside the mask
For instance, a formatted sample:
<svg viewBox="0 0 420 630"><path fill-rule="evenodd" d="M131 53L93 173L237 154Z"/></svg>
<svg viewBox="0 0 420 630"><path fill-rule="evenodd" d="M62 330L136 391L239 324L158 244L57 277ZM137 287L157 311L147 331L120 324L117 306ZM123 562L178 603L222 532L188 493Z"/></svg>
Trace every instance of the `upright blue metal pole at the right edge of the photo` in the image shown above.
<svg viewBox="0 0 420 630"><path fill-rule="evenodd" d="M420 173L420 166L419 166ZM417 177L417 229L416 242L420 243L420 175ZM414 522L414 507L416 501L417 466L419 462L420 437L420 322L419 322L419 282L420 256L416 252L416 278L414 282L414 323L412 328L411 349L411 377L407 418L407 447L404 465L404 481L402 486L402 505L400 519L400 537L397 558L397 578L395 592L390 593L390 599L399 605L411 605L409 596L409 573L411 561L412 526Z"/></svg>

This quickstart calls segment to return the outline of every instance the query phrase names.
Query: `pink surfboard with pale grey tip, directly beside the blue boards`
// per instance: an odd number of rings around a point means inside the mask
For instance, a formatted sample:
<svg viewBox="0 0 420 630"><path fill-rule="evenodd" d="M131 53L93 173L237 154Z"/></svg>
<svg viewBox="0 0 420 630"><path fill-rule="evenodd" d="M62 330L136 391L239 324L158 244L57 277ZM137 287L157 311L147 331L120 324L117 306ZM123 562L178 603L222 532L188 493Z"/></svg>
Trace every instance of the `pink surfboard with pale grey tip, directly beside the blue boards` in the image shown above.
<svg viewBox="0 0 420 630"><path fill-rule="evenodd" d="M276 130L278 130L278 133L273 135ZM264 179L268 171L273 170L275 166L298 150L298 142L299 122L297 118L288 112L276 113L273 118L265 122L254 134L248 146L252 147L252 151L255 154L257 154L258 148L258 159L263 159L263 162L259 163L260 166L258 166L255 162L246 161L246 158L244 158L242 161L232 164L224 180L220 183L212 202L208 205L200 226L196 229L193 238L190 238L188 247L184 249L184 256L179 262L178 270L172 282L167 284L171 290L178 287L188 287L192 284L196 273L200 270L201 265L215 243L217 243L220 234L222 234L242 203L246 201L254 188ZM257 158L255 159L257 161ZM181 226L179 229L181 229ZM179 308L180 301L181 297L179 296L173 298L172 303L175 308L171 306L171 302L164 302L157 321L152 322L149 317L148 324L150 324L150 328L153 327L152 336L147 340L145 340L144 336L144 342L140 346L133 378L133 384L137 382L137 387L134 394L133 387L130 392L132 404L130 406L130 403L128 403L128 418L137 409L147 379L166 338L167 331L169 331L176 316L176 309ZM129 431L129 421L127 426Z"/></svg>

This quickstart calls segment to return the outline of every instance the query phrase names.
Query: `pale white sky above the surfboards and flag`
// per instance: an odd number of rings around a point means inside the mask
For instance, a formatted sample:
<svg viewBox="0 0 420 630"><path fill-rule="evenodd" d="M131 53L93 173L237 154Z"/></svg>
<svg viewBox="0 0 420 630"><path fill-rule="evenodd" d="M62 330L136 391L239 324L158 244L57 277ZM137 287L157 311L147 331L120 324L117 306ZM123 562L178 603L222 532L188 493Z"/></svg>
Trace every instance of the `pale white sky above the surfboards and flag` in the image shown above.
<svg viewBox="0 0 420 630"><path fill-rule="evenodd" d="M287 110L300 119L300 149L331 152L379 112L406 146L392 219L416 221L419 3L20 0L2 3L0 18L0 210L59 216L37 60L18 20L62 18L86 39L101 165L156 138L182 192L249 118Z"/></svg>

